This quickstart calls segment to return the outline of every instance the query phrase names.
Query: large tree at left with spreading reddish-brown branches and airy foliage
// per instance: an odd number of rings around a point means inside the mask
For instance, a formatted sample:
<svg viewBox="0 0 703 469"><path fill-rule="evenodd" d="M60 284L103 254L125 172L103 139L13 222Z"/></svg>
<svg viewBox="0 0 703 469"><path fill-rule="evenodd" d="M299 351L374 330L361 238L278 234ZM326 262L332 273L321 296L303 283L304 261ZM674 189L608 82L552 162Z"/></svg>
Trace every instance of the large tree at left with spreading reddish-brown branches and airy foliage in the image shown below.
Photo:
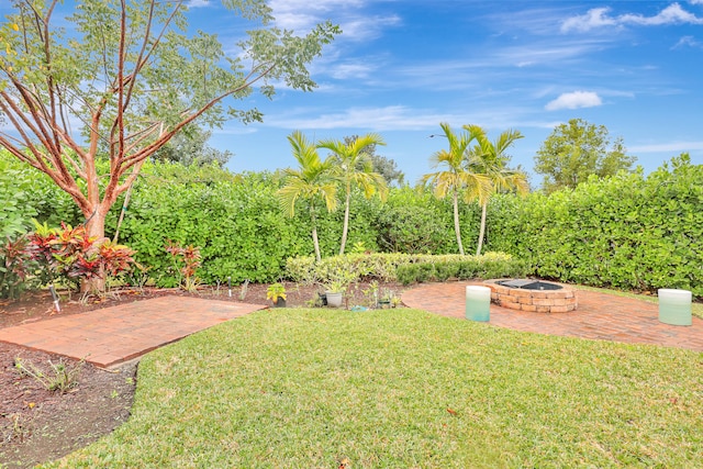
<svg viewBox="0 0 703 469"><path fill-rule="evenodd" d="M306 67L337 26L299 36L272 26L264 0L222 3L253 23L236 55L188 32L185 1L13 0L0 27L0 145L70 194L91 236L104 238L118 197L189 124L260 120L234 107L255 85L267 97L279 81L314 88Z"/></svg>

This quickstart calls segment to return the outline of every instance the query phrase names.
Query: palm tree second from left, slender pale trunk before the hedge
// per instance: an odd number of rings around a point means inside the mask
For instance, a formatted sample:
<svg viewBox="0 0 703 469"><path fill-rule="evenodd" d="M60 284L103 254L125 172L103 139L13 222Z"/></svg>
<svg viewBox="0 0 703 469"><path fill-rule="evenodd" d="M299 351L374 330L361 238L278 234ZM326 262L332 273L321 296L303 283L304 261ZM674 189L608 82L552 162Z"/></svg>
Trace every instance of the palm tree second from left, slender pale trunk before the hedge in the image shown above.
<svg viewBox="0 0 703 469"><path fill-rule="evenodd" d="M342 244L339 255L344 254L349 231L349 205L352 202L352 189L359 187L367 199L378 191L381 200L386 200L388 186L382 175L373 171L373 165L364 150L370 145L386 145L378 134L366 134L350 142L326 139L317 144L319 148L327 148L333 152L335 158L335 171L344 186L344 225L342 228Z"/></svg>

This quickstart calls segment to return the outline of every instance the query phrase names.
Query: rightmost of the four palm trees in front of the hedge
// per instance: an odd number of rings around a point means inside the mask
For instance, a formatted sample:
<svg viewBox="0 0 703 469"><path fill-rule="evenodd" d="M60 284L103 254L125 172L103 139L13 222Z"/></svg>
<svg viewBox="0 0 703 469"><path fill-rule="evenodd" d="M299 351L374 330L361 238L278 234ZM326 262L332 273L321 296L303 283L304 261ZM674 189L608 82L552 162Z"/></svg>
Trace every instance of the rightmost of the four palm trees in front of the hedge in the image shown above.
<svg viewBox="0 0 703 469"><path fill-rule="evenodd" d="M527 176L520 170L507 168L510 156L505 150L516 139L522 138L520 131L507 130L500 134L495 142L491 142L486 131L479 125L465 125L465 130L476 139L477 144L468 152L467 165L471 171L483 175L490 182L490 192L481 202L481 227L476 255L481 254L483 236L486 235L486 212L490 197L495 192L516 190L521 196L529 192Z"/></svg>

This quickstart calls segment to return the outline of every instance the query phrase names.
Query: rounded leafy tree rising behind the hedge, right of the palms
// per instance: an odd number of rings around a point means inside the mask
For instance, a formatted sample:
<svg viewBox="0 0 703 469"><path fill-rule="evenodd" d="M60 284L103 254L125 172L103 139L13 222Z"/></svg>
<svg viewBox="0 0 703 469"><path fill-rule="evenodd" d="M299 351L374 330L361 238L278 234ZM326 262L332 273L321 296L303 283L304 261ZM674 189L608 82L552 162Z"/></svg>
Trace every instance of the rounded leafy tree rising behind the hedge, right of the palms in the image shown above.
<svg viewBox="0 0 703 469"><path fill-rule="evenodd" d="M544 175L543 189L549 193L576 188L590 175L613 176L631 170L636 157L626 154L622 138L613 144L604 125L572 119L558 125L535 156L535 171Z"/></svg>

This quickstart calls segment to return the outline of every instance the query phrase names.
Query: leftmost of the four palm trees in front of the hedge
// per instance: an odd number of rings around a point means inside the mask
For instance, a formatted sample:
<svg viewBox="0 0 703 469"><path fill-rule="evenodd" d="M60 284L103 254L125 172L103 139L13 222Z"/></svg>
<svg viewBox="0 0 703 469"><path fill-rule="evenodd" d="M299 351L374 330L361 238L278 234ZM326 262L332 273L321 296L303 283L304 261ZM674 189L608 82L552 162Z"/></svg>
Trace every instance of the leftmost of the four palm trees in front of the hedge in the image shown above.
<svg viewBox="0 0 703 469"><path fill-rule="evenodd" d="M278 190L278 197L283 211L290 217L295 215L295 202L299 199L310 202L312 242L315 246L315 258L320 261L315 202L322 200L330 212L337 206L337 186L332 170L333 159L326 158L322 161L317 148L305 138L302 132L293 132L288 136L288 142L300 168L284 170L286 186Z"/></svg>

